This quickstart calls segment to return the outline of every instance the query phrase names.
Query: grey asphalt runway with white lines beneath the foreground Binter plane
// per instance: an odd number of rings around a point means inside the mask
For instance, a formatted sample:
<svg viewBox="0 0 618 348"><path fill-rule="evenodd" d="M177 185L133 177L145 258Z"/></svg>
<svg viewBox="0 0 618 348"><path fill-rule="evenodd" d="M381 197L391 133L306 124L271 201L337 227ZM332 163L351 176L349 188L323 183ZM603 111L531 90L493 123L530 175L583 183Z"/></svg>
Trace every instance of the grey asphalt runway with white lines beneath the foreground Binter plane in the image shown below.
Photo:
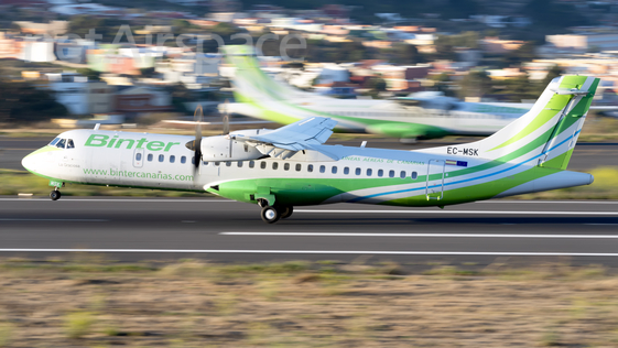
<svg viewBox="0 0 618 348"><path fill-rule="evenodd" d="M0 197L0 257L37 260L82 251L120 261L617 267L617 247L618 202L489 200L444 210L337 204L297 207L267 225L257 206L216 198Z"/></svg>

